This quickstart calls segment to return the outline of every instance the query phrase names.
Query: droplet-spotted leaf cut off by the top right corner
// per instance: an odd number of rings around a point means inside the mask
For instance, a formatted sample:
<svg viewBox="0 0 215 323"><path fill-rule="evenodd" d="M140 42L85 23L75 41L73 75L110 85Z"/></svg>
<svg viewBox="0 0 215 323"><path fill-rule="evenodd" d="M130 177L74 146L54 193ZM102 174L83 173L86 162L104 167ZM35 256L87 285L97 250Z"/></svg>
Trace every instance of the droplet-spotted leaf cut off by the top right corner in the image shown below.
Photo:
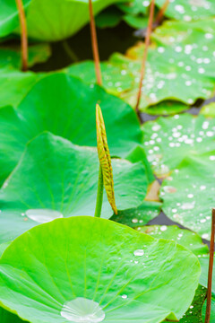
<svg viewBox="0 0 215 323"><path fill-rule="evenodd" d="M156 4L162 7L165 0L156 0ZM215 3L213 0L172 0L168 4L165 15L176 20L199 20L215 15Z"/></svg>

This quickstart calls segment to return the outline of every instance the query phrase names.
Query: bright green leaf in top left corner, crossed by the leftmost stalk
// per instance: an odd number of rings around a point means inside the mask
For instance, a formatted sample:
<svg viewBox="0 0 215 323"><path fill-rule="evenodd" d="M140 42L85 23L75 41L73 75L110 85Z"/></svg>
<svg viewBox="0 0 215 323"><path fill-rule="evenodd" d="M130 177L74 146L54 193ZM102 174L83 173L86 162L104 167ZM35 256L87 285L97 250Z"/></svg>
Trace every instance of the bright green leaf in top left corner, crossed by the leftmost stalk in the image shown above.
<svg viewBox="0 0 215 323"><path fill-rule="evenodd" d="M22 0L28 8L31 0ZM19 25L19 14L14 0L0 0L0 37L7 36Z"/></svg>

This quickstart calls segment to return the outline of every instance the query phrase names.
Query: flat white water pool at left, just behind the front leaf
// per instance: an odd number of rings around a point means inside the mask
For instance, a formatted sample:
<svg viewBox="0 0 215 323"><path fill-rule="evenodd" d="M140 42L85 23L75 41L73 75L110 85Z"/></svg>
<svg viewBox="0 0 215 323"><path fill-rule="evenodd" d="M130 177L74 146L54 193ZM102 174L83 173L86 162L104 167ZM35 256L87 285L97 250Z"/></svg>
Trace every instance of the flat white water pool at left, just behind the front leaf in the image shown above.
<svg viewBox="0 0 215 323"><path fill-rule="evenodd" d="M63 218L64 215L56 210L49 209L30 209L25 212L30 220L37 223L48 223L55 219Z"/></svg>

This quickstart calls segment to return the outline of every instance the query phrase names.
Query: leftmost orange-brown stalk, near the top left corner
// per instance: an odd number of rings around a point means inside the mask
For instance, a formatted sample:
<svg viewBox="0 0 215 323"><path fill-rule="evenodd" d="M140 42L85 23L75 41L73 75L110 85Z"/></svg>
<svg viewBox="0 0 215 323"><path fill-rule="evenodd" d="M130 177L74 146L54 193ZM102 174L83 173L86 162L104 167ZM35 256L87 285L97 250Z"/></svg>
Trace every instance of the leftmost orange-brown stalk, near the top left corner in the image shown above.
<svg viewBox="0 0 215 323"><path fill-rule="evenodd" d="M20 17L20 26L21 26L21 48L22 48L22 71L25 72L28 70L28 32L27 24L25 18L24 7L22 0L16 0L16 5Z"/></svg>

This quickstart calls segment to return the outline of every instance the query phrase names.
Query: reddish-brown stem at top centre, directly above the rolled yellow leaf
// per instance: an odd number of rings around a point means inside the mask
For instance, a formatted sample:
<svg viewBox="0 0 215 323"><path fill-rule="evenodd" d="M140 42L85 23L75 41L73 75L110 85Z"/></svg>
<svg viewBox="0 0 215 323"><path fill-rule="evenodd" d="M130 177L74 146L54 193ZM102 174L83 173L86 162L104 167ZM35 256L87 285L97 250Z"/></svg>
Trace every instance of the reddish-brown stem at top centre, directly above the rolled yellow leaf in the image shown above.
<svg viewBox="0 0 215 323"><path fill-rule="evenodd" d="M93 58L95 62L96 78L97 78L97 83L101 85L102 80L101 80L101 71L100 71L100 62L99 62L99 47L98 47L96 25L95 25L91 0L89 0L89 10L90 10L91 44L92 44Z"/></svg>

